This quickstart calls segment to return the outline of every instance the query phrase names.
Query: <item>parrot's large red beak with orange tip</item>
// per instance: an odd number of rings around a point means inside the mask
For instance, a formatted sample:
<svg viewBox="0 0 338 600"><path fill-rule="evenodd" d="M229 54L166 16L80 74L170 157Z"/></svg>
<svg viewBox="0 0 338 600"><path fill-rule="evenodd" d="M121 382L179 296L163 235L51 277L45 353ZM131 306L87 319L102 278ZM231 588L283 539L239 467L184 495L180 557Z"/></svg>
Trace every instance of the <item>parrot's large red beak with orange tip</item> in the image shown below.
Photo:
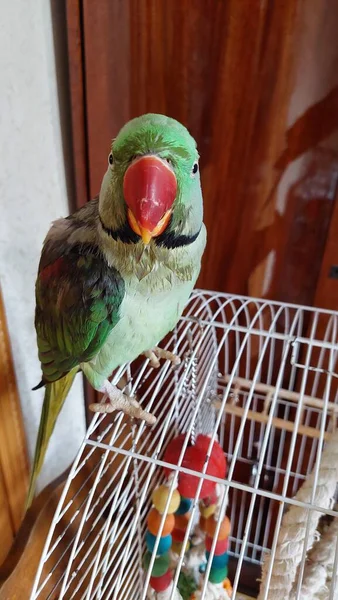
<svg viewBox="0 0 338 600"><path fill-rule="evenodd" d="M123 193L130 227L149 244L169 223L177 193L175 173L158 156L141 156L125 172Z"/></svg>

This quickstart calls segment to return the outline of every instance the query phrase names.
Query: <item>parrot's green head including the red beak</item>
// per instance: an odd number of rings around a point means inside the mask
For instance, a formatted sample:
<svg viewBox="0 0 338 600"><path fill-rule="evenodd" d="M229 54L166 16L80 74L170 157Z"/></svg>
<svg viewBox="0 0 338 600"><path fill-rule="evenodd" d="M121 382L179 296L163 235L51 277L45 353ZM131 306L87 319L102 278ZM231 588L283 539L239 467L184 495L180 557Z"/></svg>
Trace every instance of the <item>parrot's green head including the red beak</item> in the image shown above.
<svg viewBox="0 0 338 600"><path fill-rule="evenodd" d="M99 212L104 233L170 248L193 241L203 208L196 142L178 121L147 114L113 140Z"/></svg>

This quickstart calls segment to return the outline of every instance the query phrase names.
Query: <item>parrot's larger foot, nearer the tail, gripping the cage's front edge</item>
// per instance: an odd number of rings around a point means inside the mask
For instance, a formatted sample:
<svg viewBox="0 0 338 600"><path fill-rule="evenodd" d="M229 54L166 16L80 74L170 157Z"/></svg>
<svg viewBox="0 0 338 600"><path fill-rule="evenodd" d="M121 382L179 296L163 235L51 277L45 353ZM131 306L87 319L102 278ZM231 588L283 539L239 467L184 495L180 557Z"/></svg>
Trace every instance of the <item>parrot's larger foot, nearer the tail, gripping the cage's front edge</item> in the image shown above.
<svg viewBox="0 0 338 600"><path fill-rule="evenodd" d="M110 383L108 379L104 382L99 391L103 394L107 394L109 399L105 402L90 404L89 408L91 411L99 413L112 413L116 410L121 410L130 417L142 419L148 425L154 425L154 423L156 423L156 417L143 410L135 398L127 396L121 392L121 390Z"/></svg>

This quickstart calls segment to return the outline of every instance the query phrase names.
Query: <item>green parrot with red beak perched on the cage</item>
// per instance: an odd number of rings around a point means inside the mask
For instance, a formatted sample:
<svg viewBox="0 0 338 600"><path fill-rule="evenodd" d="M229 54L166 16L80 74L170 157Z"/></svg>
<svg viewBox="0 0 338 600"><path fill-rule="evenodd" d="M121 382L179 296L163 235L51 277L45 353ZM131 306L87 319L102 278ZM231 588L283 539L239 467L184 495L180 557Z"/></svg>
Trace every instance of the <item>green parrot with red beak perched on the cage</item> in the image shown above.
<svg viewBox="0 0 338 600"><path fill-rule="evenodd" d="M158 348L195 285L206 243L196 143L169 117L129 121L113 140L98 198L55 221L36 282L35 327L45 386L27 506L76 373L105 394L96 412L155 418L108 377Z"/></svg>

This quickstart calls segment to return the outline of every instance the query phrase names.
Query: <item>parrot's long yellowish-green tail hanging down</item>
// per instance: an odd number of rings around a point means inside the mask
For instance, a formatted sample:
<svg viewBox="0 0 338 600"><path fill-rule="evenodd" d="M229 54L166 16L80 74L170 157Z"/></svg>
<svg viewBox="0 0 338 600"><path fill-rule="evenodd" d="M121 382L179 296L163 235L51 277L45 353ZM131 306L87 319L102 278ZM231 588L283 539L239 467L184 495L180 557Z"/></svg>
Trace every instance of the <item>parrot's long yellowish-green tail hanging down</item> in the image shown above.
<svg viewBox="0 0 338 600"><path fill-rule="evenodd" d="M29 489L26 499L26 510L32 504L35 493L36 480L43 465L49 439L53 433L56 419L59 416L61 408L63 407L64 401L72 386L77 371L78 368L75 367L74 369L69 371L67 375L62 377L62 379L59 379L58 381L55 381L53 383L47 383L46 385L38 437L35 446L33 467L31 471Z"/></svg>

